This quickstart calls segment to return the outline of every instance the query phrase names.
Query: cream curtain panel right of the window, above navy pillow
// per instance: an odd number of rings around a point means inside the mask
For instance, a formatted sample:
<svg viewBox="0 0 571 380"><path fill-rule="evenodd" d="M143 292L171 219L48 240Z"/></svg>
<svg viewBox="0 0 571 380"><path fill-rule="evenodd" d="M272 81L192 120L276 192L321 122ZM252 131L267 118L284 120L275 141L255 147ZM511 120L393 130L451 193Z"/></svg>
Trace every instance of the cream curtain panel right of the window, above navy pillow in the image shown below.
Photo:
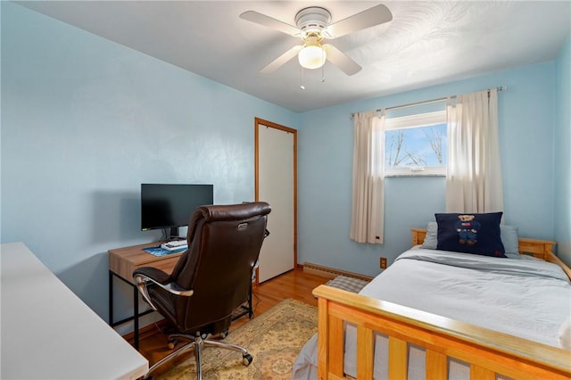
<svg viewBox="0 0 571 380"><path fill-rule="evenodd" d="M458 95L447 113L446 211L503 211L497 90Z"/></svg>

